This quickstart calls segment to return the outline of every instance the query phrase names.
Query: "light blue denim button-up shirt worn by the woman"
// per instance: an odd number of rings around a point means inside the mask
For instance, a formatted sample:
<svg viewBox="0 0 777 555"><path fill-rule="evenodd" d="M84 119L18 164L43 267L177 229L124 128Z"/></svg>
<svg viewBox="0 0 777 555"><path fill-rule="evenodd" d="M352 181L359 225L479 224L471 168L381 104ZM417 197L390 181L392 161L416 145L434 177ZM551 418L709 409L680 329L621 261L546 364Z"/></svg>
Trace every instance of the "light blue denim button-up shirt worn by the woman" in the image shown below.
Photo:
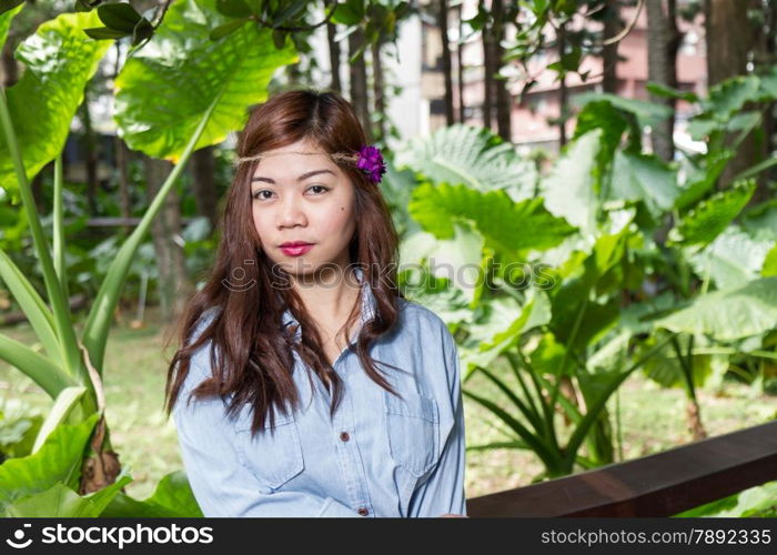
<svg viewBox="0 0 777 555"><path fill-rule="evenodd" d="M356 275L361 281L361 270ZM375 297L361 282L364 325L374 314ZM186 406L189 392L211 371L211 342L196 351L173 416L184 470L205 516L466 514L456 345L434 312L403 299L400 306L397 325L370 354L406 371L386 369L384 374L404 398L373 382L347 346L333 365L344 392L330 420L324 384L294 352L301 408L276 412L274 434L265 428L251 437L248 405L236 418L226 416L226 401L218 396ZM212 317L212 312L203 315L195 336ZM286 310L283 325L290 324L297 325L299 341L299 322Z"/></svg>

